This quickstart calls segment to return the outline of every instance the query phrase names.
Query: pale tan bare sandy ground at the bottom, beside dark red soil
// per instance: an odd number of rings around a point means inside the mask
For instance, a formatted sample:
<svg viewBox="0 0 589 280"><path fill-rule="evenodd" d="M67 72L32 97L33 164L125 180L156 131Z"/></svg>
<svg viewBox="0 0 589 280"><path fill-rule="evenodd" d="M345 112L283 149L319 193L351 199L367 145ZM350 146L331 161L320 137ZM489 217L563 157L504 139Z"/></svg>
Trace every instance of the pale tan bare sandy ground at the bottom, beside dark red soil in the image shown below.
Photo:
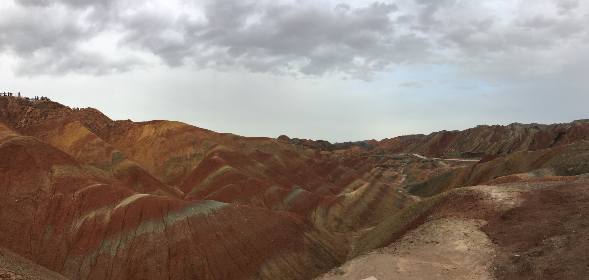
<svg viewBox="0 0 589 280"><path fill-rule="evenodd" d="M489 265L496 245L480 230L486 224L482 219L430 221L385 248L351 259L339 274L332 269L317 280L495 279Z"/></svg>

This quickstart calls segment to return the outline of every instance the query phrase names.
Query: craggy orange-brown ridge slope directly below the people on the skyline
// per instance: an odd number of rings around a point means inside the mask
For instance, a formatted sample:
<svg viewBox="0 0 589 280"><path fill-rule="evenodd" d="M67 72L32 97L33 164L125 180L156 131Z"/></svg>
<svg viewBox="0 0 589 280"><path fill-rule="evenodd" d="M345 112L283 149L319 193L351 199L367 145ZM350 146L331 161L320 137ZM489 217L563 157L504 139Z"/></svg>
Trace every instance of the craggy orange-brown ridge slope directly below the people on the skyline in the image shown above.
<svg viewBox="0 0 589 280"><path fill-rule="evenodd" d="M97 109L72 110L52 101L0 98L0 118L18 134L35 136L86 164L108 172L128 188L180 198L183 194L163 184L107 142L98 138L101 126L113 124Z"/></svg>

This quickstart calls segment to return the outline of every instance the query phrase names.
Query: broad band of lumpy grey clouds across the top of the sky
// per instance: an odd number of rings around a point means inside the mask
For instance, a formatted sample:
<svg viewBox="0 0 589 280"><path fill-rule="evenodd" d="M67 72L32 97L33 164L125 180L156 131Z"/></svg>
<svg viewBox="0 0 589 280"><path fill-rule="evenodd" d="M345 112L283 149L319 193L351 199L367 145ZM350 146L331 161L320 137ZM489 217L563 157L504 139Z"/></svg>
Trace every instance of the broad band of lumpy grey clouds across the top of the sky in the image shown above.
<svg viewBox="0 0 589 280"><path fill-rule="evenodd" d="M544 4L508 19L452 0L1 1L0 51L17 58L21 75L103 75L157 63L365 81L411 64L522 75L588 56L587 5Z"/></svg>

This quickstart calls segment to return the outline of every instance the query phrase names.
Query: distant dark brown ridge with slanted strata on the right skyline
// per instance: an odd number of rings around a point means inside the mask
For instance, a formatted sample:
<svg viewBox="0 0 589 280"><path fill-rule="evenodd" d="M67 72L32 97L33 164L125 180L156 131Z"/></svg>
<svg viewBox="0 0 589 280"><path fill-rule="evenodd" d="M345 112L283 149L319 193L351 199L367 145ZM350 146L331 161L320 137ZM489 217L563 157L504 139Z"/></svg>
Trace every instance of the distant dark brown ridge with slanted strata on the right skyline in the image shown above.
<svg viewBox="0 0 589 280"><path fill-rule="evenodd" d="M376 146L375 154L453 154L484 152L508 155L517 151L537 151L587 138L589 122L580 119L568 124L478 125L464 131L439 131L429 135L398 136Z"/></svg>

